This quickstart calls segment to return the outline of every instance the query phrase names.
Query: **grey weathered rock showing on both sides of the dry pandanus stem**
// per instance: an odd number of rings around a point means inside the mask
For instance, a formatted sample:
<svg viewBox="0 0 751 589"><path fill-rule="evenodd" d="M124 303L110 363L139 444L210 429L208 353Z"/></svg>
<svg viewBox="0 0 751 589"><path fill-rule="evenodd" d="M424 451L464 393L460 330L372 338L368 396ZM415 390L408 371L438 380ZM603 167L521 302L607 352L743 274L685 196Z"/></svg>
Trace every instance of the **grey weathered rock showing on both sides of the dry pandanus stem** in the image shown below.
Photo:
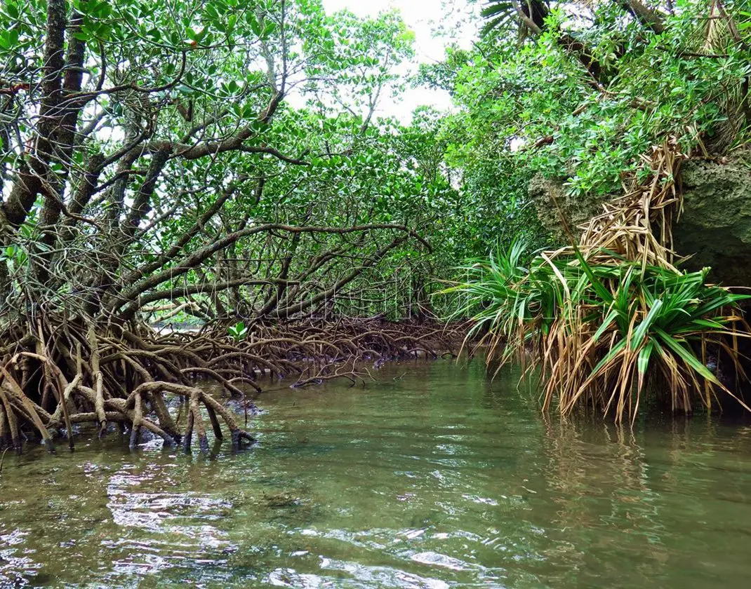
<svg viewBox="0 0 751 589"><path fill-rule="evenodd" d="M677 253L691 256L683 267L696 270L711 266L714 280L751 287L751 164L740 158L689 160L683 163L680 181L683 215L673 228L673 236ZM530 182L529 197L544 227L562 241L566 236L553 197L572 230L599 215L606 198L567 197L561 180L541 176Z"/></svg>

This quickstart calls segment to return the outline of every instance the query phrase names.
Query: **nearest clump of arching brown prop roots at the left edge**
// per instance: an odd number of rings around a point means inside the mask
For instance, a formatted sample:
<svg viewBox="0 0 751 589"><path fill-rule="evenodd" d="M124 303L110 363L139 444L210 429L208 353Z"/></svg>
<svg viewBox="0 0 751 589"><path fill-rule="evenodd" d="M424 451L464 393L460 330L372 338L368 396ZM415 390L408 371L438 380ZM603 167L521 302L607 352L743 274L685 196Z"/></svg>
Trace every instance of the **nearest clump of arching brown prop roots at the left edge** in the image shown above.
<svg viewBox="0 0 751 589"><path fill-rule="evenodd" d="M92 329L86 332L70 325L65 331L68 338L35 338L33 352L16 346L11 348L11 356L6 348L0 360L0 446L20 452L23 441L32 435L53 451L53 433L65 430L73 449L74 425L93 423L101 436L108 423L117 423L130 428L131 447L140 443L143 430L147 430L170 446L182 442L190 449L187 434L195 429L201 449L208 451L202 410L216 439L224 438L223 422L235 447L243 440L254 441L219 401L191 385L190 376L201 374L220 383L231 395L244 397L243 390L231 382L239 371L219 374L190 350L168 350L162 355L129 349L133 340L122 338L122 334L97 336ZM41 322L38 335L43 336ZM196 360L202 365L183 367ZM184 401L188 412L184 432L179 419L170 413L165 395ZM252 403L246 407L256 409Z"/></svg>

